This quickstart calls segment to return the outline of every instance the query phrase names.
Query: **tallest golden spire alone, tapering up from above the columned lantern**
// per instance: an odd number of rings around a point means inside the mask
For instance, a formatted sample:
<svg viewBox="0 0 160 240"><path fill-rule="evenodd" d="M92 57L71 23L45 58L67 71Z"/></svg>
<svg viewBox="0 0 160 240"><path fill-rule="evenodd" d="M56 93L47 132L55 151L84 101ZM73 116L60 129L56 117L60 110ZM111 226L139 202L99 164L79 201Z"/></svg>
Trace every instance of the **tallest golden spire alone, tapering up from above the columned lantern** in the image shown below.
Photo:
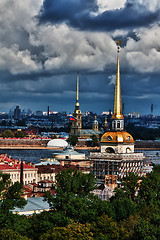
<svg viewBox="0 0 160 240"><path fill-rule="evenodd" d="M115 85L115 96L114 96L114 112L112 119L124 119L122 115L121 107L121 83L120 83L120 66L119 66L119 49L121 41L117 41L117 74L116 74L116 85Z"/></svg>

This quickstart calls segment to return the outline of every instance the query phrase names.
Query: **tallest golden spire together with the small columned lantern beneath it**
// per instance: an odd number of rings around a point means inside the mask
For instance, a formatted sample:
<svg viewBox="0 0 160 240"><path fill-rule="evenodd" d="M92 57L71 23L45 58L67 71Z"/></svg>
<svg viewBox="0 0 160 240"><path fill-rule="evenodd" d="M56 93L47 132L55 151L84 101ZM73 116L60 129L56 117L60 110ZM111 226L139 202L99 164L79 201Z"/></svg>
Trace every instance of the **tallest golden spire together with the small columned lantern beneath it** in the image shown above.
<svg viewBox="0 0 160 240"><path fill-rule="evenodd" d="M117 73L115 84L115 96L114 96L114 112L112 115L112 130L123 131L124 117L122 114L121 106L121 82L120 82L120 64L119 64L119 49L121 41L117 41Z"/></svg>

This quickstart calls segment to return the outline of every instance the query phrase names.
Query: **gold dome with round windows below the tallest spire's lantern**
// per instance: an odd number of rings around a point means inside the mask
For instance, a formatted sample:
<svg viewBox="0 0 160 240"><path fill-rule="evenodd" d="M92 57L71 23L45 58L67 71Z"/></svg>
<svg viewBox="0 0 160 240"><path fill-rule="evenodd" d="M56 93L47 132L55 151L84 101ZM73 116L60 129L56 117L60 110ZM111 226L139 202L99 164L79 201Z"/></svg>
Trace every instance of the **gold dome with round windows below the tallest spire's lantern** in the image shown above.
<svg viewBox="0 0 160 240"><path fill-rule="evenodd" d="M101 137L101 142L134 143L134 139L133 139L132 135L126 131L106 132Z"/></svg>

